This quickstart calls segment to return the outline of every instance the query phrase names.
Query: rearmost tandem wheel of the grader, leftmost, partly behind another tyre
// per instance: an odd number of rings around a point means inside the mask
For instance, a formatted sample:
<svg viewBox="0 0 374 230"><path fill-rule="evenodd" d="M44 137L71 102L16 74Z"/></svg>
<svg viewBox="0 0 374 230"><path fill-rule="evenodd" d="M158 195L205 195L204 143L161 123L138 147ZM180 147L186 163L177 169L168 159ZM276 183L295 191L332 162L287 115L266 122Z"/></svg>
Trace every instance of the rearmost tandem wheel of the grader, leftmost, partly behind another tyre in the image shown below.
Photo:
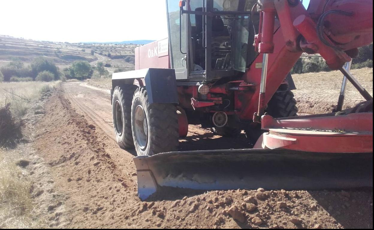
<svg viewBox="0 0 374 230"><path fill-rule="evenodd" d="M114 134L118 145L123 149L134 148L131 130L131 101L136 85L116 86L113 90L112 116Z"/></svg>

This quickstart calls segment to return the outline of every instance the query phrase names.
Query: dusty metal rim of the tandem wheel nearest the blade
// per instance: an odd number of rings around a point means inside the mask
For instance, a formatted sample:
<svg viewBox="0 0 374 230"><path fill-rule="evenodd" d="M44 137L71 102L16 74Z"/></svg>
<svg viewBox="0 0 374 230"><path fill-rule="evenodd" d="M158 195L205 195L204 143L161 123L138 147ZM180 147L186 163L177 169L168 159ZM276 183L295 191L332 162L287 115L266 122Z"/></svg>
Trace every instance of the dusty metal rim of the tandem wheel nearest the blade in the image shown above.
<svg viewBox="0 0 374 230"><path fill-rule="evenodd" d="M135 138L142 150L147 147L148 142L148 124L145 116L144 108L138 105L135 108Z"/></svg>

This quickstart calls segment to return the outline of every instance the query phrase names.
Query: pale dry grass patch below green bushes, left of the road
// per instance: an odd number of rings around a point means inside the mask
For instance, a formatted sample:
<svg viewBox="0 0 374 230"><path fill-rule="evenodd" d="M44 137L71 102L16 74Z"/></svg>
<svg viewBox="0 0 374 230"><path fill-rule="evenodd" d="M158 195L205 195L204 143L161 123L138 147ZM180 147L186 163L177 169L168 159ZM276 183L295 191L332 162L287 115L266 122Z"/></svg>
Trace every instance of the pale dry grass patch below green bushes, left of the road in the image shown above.
<svg viewBox="0 0 374 230"><path fill-rule="evenodd" d="M17 118L24 116L27 109L47 88L55 87L57 82L1 82L0 106L10 103L10 111Z"/></svg>

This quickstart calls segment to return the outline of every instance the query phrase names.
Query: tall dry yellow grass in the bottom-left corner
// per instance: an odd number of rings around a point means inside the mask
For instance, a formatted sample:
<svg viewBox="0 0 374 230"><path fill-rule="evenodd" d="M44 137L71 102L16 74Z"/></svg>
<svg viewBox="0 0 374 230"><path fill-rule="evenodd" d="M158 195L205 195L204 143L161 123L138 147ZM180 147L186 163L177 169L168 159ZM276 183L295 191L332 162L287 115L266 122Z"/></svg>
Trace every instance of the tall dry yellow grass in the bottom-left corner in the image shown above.
<svg viewBox="0 0 374 230"><path fill-rule="evenodd" d="M0 149L0 228L36 228L31 185L16 166L15 151Z"/></svg>

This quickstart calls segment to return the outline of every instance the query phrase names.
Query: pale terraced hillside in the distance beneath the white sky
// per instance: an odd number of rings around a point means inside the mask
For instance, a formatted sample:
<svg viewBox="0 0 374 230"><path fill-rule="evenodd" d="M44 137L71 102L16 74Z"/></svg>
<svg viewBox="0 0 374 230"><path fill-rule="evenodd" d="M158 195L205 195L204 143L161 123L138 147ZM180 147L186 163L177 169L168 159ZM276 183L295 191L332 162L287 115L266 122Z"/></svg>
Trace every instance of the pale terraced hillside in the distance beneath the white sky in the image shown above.
<svg viewBox="0 0 374 230"><path fill-rule="evenodd" d="M116 68L131 70L134 69L134 49L137 46L35 41L0 35L0 67L6 66L14 58L28 65L35 58L43 57L53 61L60 70L77 60L88 61L92 66L96 62L110 64L107 68L109 72Z"/></svg>

